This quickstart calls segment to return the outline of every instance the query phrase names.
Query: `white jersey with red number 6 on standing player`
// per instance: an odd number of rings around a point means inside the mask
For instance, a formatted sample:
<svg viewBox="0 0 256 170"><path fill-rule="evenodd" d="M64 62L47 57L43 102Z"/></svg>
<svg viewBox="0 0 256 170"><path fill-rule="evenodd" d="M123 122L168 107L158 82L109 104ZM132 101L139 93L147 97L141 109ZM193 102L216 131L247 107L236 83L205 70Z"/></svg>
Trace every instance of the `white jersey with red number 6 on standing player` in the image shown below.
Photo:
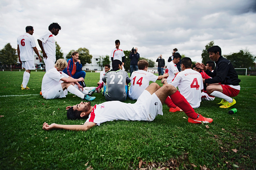
<svg viewBox="0 0 256 170"><path fill-rule="evenodd" d="M28 33L25 33L17 38L17 44L19 45L20 51L20 60L25 61L34 61L34 49L36 46L34 37Z"/></svg>

